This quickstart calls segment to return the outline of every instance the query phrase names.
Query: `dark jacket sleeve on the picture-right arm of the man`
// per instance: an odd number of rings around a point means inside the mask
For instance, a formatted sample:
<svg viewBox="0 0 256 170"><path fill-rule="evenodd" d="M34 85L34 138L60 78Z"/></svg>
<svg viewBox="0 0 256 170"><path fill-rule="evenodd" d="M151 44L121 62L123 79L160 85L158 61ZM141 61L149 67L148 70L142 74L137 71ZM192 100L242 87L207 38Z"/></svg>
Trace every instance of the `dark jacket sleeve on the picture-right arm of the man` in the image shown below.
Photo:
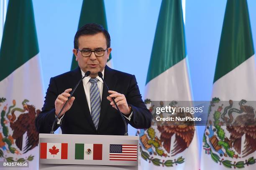
<svg viewBox="0 0 256 170"><path fill-rule="evenodd" d="M134 75L131 77L126 100L133 110L133 115L129 122L130 125L136 129L149 128L151 126L152 115L141 99L140 90Z"/></svg>

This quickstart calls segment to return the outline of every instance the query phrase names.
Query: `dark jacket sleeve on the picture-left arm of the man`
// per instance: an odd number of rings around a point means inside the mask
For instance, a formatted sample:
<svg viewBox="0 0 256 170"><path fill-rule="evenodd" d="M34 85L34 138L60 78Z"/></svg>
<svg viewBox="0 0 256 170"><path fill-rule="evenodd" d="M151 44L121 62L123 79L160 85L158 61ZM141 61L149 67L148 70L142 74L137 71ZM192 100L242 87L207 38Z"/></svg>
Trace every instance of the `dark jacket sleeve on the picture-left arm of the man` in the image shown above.
<svg viewBox="0 0 256 170"><path fill-rule="evenodd" d="M54 102L58 97L58 90L54 78L50 79L49 87L46 92L44 106L42 112L36 117L36 130L38 133L50 133L51 125L55 119L55 105ZM59 128L57 123L54 125L54 130Z"/></svg>

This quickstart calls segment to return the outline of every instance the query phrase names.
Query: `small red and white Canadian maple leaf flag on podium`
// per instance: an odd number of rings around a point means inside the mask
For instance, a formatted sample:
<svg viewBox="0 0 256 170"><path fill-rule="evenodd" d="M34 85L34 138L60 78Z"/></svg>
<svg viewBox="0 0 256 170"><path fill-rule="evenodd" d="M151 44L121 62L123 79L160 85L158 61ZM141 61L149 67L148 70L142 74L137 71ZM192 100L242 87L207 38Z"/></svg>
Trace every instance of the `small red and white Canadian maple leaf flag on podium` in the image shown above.
<svg viewBox="0 0 256 170"><path fill-rule="evenodd" d="M67 159L67 143L40 143L40 159Z"/></svg>

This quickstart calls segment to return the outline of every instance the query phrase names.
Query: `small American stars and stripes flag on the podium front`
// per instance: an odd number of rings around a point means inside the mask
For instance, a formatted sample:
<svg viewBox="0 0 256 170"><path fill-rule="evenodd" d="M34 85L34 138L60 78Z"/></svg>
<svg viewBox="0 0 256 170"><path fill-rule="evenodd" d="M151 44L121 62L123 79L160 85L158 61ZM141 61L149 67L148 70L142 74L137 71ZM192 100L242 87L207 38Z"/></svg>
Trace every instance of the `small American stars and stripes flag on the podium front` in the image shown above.
<svg viewBox="0 0 256 170"><path fill-rule="evenodd" d="M137 161L137 145L110 144L109 160Z"/></svg>

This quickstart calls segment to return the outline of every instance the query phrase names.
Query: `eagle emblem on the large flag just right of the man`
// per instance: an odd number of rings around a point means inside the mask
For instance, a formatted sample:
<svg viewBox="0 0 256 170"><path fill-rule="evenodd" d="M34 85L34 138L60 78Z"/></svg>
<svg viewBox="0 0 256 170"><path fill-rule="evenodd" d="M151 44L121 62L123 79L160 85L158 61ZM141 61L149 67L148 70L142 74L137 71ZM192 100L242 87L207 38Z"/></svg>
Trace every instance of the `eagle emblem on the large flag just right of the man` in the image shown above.
<svg viewBox="0 0 256 170"><path fill-rule="evenodd" d="M145 100L145 104L151 104L150 99ZM159 102L160 107L164 106L164 102ZM171 107L177 105L177 101L172 101L169 103ZM153 117L155 116L155 105L151 105L149 108ZM190 113L177 113L176 116L191 116ZM163 117L160 114L160 117ZM154 123L154 122L153 122ZM156 166L166 166L172 167L174 165L182 164L185 158L178 157L174 160L166 160L169 157L174 157L186 150L195 133L194 122L186 122L186 124L177 125L160 125L156 124L148 129L138 130L137 135L139 135L141 158L144 160L149 160L149 163L153 163ZM171 150L172 137L174 136L174 145ZM159 159L162 158L163 160ZM164 159L165 158L165 159Z"/></svg>

